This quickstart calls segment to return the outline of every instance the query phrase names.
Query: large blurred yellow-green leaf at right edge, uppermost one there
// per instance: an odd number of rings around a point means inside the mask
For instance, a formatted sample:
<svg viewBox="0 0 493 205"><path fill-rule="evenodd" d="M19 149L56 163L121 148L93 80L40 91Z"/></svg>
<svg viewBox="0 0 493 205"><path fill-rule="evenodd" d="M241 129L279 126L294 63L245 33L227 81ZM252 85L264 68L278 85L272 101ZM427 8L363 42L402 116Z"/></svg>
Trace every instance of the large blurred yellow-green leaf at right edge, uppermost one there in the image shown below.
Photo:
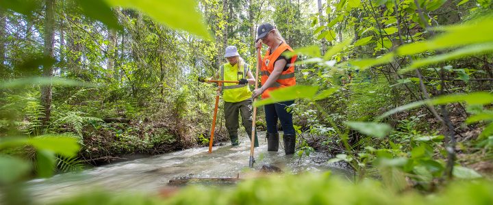
<svg viewBox="0 0 493 205"><path fill-rule="evenodd" d="M455 48L458 46L493 42L493 17L488 16L479 20L471 20L463 25L437 27L437 31L444 33L432 40L415 42L400 46L396 52L398 55L413 55L425 51Z"/></svg>

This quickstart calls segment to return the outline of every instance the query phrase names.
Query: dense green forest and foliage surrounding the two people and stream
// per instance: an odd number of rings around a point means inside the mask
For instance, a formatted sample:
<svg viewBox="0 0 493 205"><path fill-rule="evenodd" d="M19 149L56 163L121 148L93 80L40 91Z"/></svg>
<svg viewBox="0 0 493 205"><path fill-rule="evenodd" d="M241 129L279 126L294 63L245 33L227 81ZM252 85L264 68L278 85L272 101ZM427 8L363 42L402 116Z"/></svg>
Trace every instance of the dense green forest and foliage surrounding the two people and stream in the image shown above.
<svg viewBox="0 0 493 205"><path fill-rule="evenodd" d="M257 103L298 99L296 157L327 151L399 191L491 177L491 1L146 2L1 1L2 186L205 146L216 88L197 77L228 45L255 70L262 23L300 56L299 86Z"/></svg>

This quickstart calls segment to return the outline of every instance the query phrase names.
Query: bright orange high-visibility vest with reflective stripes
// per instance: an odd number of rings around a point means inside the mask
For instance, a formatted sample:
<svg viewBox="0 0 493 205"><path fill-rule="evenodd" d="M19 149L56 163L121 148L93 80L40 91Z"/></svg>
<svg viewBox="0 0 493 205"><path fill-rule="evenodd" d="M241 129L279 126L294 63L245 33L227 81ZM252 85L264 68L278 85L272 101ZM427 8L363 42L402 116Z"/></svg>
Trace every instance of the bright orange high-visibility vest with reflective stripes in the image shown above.
<svg viewBox="0 0 493 205"><path fill-rule="evenodd" d="M264 59L262 59L262 67L260 68L260 74L262 74L262 77L260 79L260 83L264 85L264 83L267 81L270 73L273 72L274 70L274 62L275 60L283 53L284 51L289 50L293 51L288 44L283 42L273 53L270 53L270 49L267 50L266 55L264 56ZM288 70L285 70L281 72L281 75L273 83L273 85L270 85L264 93L262 94L262 99L268 98L269 97L269 92L272 90L276 90L280 87L288 87L288 86L293 86L296 85L296 78L294 78L294 61L296 61L296 55L293 55L291 57L290 62L286 62L288 64L289 68Z"/></svg>

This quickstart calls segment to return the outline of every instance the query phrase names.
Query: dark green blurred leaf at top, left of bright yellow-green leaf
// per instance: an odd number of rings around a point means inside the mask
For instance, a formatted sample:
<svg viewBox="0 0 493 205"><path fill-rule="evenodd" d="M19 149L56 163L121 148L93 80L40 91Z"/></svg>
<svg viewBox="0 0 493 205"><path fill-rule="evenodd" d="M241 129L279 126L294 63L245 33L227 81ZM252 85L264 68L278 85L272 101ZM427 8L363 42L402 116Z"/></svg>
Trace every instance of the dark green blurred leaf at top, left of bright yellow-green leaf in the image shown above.
<svg viewBox="0 0 493 205"><path fill-rule="evenodd" d="M114 12L111 10L110 5L108 5L108 3L106 3L105 1L79 0L76 2L79 3L82 11L84 12L84 14L86 14L86 16L99 20L112 29L123 29L120 23L118 23L118 19L116 18Z"/></svg>

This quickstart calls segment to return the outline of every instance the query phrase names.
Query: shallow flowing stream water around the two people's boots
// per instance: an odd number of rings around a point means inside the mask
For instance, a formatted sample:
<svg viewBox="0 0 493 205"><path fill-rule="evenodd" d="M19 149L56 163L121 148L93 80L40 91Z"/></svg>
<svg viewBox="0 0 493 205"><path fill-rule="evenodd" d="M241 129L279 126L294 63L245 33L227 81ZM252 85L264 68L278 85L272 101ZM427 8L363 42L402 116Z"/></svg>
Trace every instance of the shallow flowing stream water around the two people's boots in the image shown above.
<svg viewBox="0 0 493 205"><path fill-rule="evenodd" d="M310 156L285 156L282 139L279 152L267 152L264 132L259 133L260 147L255 148L253 171L262 165L279 167L284 173L325 172L347 176L344 167L326 163L327 154L312 153ZM212 154L208 147L191 148L135 159L121 163L94 167L77 174L59 174L48 179L27 182L29 191L37 200L51 201L55 198L89 191L97 187L110 191L138 191L155 193L165 187L174 178L236 178L248 171L250 159L250 141L244 135L240 137L240 146L232 147L229 143L215 146Z"/></svg>

